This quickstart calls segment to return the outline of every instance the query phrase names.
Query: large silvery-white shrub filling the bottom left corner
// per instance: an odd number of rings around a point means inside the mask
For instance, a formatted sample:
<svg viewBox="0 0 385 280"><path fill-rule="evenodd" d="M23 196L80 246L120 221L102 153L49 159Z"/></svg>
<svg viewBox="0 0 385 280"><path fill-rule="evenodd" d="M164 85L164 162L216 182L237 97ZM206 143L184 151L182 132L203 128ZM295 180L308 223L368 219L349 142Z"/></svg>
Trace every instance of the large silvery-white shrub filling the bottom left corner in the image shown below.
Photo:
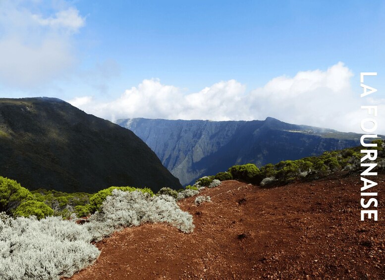
<svg viewBox="0 0 385 280"><path fill-rule="evenodd" d="M0 279L58 280L93 263L100 251L86 228L61 217L0 219Z"/></svg>

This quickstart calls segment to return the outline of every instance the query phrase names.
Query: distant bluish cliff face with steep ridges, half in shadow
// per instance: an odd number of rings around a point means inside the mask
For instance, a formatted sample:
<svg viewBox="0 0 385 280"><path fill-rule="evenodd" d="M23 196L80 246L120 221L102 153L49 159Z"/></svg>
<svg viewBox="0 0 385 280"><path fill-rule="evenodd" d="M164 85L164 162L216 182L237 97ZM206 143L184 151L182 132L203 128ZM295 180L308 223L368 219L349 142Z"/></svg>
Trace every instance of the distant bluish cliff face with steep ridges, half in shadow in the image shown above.
<svg viewBox="0 0 385 280"><path fill-rule="evenodd" d="M263 166L359 145L359 134L253 121L120 119L158 155L183 185L236 164Z"/></svg>

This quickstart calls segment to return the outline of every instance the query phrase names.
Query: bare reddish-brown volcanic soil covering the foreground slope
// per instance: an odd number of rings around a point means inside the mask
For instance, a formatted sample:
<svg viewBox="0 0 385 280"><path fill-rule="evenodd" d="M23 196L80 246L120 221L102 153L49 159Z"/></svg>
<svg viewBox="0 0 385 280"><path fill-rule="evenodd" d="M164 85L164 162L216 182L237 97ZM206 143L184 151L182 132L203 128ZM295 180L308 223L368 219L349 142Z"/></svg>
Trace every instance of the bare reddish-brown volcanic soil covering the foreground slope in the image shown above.
<svg viewBox="0 0 385 280"><path fill-rule="evenodd" d="M373 178L372 178L373 179ZM384 189L385 174L375 179ZM385 194L379 221L360 221L359 174L263 189L224 181L212 202L180 201L193 233L167 224L125 228L97 244L71 280L385 279Z"/></svg>

